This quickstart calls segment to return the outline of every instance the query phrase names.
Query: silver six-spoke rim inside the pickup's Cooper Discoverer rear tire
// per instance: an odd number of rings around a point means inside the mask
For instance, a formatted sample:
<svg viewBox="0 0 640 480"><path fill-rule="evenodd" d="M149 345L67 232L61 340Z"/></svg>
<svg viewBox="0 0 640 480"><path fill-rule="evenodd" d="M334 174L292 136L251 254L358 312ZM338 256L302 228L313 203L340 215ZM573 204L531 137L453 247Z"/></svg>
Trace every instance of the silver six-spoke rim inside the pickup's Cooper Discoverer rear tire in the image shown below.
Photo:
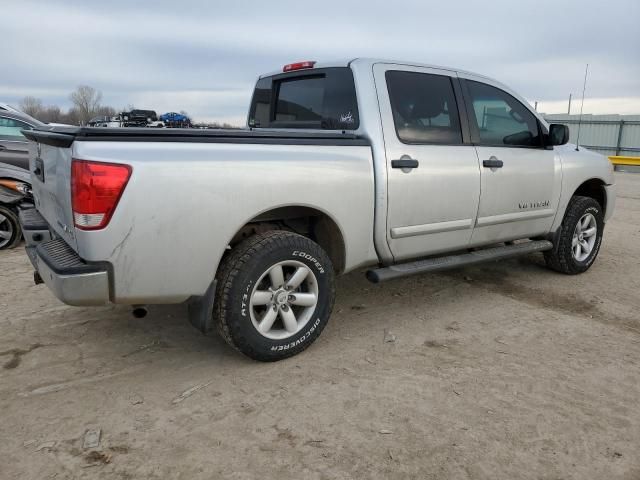
<svg viewBox="0 0 640 480"><path fill-rule="evenodd" d="M309 323L317 304L314 273L302 262L285 260L269 267L253 287L251 322L260 335L283 340Z"/></svg>

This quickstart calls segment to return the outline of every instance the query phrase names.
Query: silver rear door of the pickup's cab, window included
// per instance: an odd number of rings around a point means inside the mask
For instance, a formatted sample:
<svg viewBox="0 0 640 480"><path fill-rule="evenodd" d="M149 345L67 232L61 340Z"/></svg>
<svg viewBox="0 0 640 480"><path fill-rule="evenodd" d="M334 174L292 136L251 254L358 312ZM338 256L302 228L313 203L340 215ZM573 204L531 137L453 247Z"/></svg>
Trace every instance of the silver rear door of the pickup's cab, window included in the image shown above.
<svg viewBox="0 0 640 480"><path fill-rule="evenodd" d="M480 167L455 72L374 65L387 162L387 241L396 261L471 240Z"/></svg>

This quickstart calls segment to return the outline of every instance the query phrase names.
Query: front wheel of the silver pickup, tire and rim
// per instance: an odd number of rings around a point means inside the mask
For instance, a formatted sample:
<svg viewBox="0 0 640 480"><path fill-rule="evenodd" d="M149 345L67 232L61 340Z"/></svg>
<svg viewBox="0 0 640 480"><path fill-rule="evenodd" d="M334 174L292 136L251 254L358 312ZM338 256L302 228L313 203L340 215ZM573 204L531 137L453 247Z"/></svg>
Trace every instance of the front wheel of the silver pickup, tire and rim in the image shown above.
<svg viewBox="0 0 640 480"><path fill-rule="evenodd" d="M598 256L603 231L600 204L590 197L572 197L553 249L544 252L547 266L567 275L586 272Z"/></svg>

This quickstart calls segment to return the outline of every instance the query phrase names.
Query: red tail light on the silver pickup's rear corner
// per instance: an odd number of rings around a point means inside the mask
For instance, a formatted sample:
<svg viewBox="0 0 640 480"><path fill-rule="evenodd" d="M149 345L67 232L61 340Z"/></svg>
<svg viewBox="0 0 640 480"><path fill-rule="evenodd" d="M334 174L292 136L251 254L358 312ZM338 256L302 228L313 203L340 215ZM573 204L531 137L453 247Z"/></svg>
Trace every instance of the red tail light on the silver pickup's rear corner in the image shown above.
<svg viewBox="0 0 640 480"><path fill-rule="evenodd" d="M131 167L119 163L71 162L73 223L81 230L99 230L111 220L131 176Z"/></svg>

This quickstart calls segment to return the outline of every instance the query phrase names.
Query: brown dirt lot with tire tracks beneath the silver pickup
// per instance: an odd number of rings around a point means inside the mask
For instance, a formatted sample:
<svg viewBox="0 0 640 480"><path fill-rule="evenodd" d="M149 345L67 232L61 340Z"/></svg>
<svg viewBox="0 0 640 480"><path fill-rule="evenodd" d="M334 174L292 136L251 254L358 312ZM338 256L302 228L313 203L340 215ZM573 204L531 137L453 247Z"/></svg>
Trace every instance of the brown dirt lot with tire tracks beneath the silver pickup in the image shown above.
<svg viewBox="0 0 640 480"><path fill-rule="evenodd" d="M64 306L3 252L0 478L640 479L640 175L617 182L588 273L351 274L276 364L182 306Z"/></svg>

